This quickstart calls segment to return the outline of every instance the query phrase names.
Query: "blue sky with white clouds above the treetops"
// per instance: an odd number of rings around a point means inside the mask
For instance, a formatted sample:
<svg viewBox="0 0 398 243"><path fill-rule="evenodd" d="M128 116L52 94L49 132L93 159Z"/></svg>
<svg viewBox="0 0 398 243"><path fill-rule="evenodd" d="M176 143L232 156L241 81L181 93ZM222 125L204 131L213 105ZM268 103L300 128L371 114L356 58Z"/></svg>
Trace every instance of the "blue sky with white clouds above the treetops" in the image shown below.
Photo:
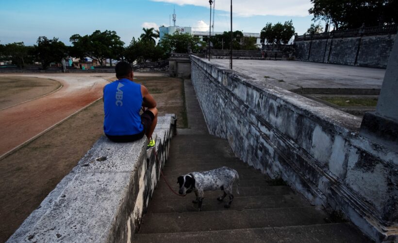
<svg viewBox="0 0 398 243"><path fill-rule="evenodd" d="M230 7L230 0L216 0L215 31L230 30ZM260 33L267 22L292 19L302 35L313 23L311 7L310 0L233 0L232 29ZM111 30L128 45L143 27L169 26L174 9L176 25L208 30L208 0L0 0L0 44L33 45L38 36L47 36L71 45L71 35Z"/></svg>

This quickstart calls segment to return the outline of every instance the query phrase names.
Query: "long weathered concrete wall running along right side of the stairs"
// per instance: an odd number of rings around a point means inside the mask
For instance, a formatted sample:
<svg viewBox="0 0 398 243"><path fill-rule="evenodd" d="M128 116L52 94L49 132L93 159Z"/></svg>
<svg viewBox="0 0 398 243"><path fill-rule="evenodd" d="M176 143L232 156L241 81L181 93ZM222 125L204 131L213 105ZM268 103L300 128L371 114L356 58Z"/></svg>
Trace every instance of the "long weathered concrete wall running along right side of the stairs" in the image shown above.
<svg viewBox="0 0 398 243"><path fill-rule="evenodd" d="M358 134L361 120L191 57L209 131L236 156L341 210L377 241L398 233L398 154Z"/></svg>

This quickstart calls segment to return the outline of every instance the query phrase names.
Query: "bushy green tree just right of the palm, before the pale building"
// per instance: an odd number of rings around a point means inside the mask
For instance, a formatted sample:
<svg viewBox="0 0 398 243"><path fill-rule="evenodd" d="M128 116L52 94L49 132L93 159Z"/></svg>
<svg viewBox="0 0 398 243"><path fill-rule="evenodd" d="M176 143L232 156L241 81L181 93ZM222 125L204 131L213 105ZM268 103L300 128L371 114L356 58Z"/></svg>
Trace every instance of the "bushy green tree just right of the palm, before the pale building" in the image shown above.
<svg viewBox="0 0 398 243"><path fill-rule="evenodd" d="M194 53L199 53L206 46L204 41L200 41L199 37L192 36L188 33L166 34L159 43L165 53L168 55L171 51L176 53L188 53L188 47Z"/></svg>

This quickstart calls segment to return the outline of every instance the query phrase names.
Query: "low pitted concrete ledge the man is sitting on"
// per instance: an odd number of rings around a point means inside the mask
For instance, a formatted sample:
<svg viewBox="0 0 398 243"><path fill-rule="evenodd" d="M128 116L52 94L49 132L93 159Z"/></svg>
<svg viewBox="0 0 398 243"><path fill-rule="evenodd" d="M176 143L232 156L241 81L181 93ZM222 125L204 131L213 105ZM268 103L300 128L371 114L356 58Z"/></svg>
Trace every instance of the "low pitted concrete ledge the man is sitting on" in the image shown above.
<svg viewBox="0 0 398 243"><path fill-rule="evenodd" d="M158 118L148 139L114 143L102 136L8 239L14 242L130 242L165 165L176 117Z"/></svg>

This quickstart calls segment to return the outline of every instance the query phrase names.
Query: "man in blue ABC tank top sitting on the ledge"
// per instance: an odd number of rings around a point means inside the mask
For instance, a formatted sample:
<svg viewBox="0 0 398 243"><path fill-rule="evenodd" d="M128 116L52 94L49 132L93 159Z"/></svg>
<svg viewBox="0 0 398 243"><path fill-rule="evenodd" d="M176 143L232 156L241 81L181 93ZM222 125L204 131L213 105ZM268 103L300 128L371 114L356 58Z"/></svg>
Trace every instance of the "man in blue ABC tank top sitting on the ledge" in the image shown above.
<svg viewBox="0 0 398 243"><path fill-rule="evenodd" d="M116 80L103 88L104 133L114 142L131 142L144 137L147 148L155 146L151 139L157 123L156 101L148 89L133 82L133 69L127 62L116 64ZM147 109L140 116L141 106Z"/></svg>

